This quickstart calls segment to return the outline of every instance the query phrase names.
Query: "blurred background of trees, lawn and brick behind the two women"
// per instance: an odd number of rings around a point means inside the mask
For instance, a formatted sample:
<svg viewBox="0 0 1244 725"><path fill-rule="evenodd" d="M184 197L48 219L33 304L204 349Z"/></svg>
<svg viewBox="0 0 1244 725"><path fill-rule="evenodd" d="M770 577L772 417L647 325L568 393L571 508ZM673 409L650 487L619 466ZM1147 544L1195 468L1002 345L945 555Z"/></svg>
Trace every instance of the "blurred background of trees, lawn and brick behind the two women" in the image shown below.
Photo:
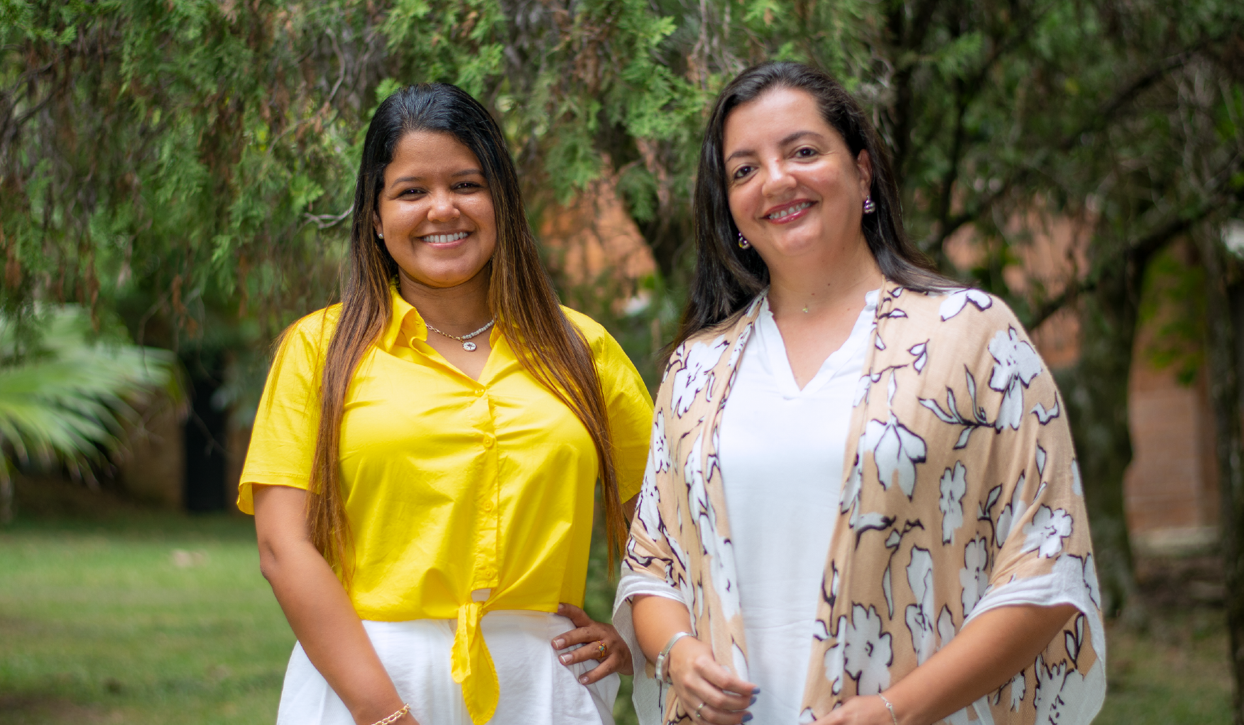
<svg viewBox="0 0 1244 725"><path fill-rule="evenodd" d="M1244 724L1235 0L0 0L0 723L271 720L289 629L214 512L382 98L493 111L564 301L654 386L707 108L766 58L865 103L911 236L1055 368L1101 721Z"/></svg>

